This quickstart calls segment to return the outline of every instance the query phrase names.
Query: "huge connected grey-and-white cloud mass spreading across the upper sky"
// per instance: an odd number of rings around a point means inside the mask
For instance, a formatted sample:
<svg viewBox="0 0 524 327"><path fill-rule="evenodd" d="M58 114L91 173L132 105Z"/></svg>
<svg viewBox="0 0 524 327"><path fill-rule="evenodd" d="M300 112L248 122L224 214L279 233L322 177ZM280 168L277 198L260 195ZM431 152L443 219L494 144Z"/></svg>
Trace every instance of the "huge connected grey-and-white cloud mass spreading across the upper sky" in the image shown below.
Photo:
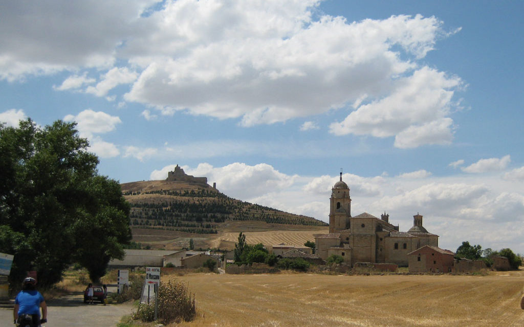
<svg viewBox="0 0 524 327"><path fill-rule="evenodd" d="M419 61L460 29L421 15L348 22L322 15L321 2L13 2L0 13L0 78L73 71L56 89L77 89L97 69L84 92L115 100L108 93L130 84L127 102L245 127L353 105L332 133L449 144L462 81Z"/></svg>

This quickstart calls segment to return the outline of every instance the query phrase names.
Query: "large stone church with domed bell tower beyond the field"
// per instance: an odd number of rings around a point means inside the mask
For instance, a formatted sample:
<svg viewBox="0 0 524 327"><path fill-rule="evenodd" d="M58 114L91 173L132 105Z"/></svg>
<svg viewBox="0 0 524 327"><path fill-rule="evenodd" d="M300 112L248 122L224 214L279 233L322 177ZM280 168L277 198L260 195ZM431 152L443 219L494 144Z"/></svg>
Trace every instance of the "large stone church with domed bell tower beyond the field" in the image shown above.
<svg viewBox="0 0 524 327"><path fill-rule="evenodd" d="M336 182L330 198L329 234L315 235L316 254L324 260L336 254L352 266L357 262L395 263L408 265L408 253L424 245L438 246L439 236L422 226L422 216L413 216L413 227L400 232L389 222L389 215L380 218L367 212L351 216L350 188Z"/></svg>

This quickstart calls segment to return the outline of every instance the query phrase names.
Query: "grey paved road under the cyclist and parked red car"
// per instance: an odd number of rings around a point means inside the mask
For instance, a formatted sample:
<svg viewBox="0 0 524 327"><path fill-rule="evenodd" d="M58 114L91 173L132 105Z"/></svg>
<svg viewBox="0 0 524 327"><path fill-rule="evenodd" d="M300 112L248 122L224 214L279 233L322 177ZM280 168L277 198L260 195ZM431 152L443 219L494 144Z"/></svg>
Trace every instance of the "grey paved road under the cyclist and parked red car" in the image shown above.
<svg viewBox="0 0 524 327"><path fill-rule="evenodd" d="M49 300L46 327L115 327L124 315L132 311L130 304L86 305L83 295L75 294ZM0 325L14 326L13 309L0 309Z"/></svg>

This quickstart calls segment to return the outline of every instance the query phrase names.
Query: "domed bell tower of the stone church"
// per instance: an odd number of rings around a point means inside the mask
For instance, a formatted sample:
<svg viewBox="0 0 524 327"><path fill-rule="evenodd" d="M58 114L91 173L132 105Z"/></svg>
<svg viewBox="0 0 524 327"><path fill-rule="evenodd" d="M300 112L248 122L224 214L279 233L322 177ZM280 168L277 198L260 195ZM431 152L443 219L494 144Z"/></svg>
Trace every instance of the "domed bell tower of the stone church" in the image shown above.
<svg viewBox="0 0 524 327"><path fill-rule="evenodd" d="M331 189L329 232L336 233L350 228L350 217L350 188L342 182L342 172L340 172L340 181Z"/></svg>

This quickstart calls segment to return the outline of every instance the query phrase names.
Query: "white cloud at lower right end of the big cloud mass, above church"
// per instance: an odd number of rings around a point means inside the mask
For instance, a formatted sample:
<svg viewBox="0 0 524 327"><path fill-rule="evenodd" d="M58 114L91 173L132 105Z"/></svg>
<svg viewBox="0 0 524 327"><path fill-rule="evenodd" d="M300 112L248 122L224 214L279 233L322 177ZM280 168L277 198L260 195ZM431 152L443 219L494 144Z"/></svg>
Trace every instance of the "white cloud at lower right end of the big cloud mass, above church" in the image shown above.
<svg viewBox="0 0 524 327"><path fill-rule="evenodd" d="M458 77L422 67L392 82L388 96L362 105L342 122L333 123L331 132L395 136L397 148L448 144L453 138L453 120L446 116L452 107L453 89L461 83Z"/></svg>

